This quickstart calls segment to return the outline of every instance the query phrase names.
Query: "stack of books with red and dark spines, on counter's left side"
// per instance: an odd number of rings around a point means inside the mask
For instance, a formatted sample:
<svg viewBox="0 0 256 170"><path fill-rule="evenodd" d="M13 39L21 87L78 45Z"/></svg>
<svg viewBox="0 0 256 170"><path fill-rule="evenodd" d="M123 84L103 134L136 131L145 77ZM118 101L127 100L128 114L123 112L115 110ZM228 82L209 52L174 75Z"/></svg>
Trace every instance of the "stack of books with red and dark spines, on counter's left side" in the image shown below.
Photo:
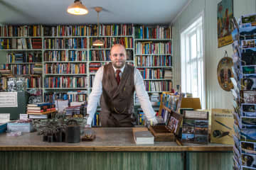
<svg viewBox="0 0 256 170"><path fill-rule="evenodd" d="M29 118L49 118L56 111L53 103L33 103L27 105Z"/></svg>

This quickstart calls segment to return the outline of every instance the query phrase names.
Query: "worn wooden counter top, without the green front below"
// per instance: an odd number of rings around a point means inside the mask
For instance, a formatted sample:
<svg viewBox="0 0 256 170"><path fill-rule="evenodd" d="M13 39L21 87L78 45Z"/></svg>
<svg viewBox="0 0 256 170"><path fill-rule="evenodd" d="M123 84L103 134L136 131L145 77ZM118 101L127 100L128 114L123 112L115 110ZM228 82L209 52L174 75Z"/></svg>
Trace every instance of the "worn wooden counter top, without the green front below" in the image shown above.
<svg viewBox="0 0 256 170"><path fill-rule="evenodd" d="M95 140L75 144L65 142L43 142L43 136L36 132L23 133L19 137L0 134L0 151L69 151L69 152L229 152L233 145L209 143L198 145L176 142L154 142L154 145L136 145L132 128L92 128Z"/></svg>

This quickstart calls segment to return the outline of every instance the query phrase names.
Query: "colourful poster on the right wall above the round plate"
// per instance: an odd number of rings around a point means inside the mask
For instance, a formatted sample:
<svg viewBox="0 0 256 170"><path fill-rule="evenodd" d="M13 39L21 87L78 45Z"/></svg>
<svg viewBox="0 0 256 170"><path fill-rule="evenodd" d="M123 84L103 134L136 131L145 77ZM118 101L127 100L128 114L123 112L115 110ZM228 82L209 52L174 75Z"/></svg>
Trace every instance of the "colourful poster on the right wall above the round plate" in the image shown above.
<svg viewBox="0 0 256 170"><path fill-rule="evenodd" d="M233 0L223 0L218 4L218 47L229 45L233 42Z"/></svg>

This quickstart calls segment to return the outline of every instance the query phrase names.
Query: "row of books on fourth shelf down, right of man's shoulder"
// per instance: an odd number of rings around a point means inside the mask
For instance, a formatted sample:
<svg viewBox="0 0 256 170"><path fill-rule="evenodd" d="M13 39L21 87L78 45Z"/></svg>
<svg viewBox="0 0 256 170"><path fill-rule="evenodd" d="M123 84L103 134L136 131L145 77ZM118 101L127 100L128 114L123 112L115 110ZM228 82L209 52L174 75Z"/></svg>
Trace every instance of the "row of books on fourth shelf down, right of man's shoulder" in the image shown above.
<svg viewBox="0 0 256 170"><path fill-rule="evenodd" d="M166 79L165 69L142 69L138 68L143 79ZM170 72L170 70L168 69Z"/></svg>

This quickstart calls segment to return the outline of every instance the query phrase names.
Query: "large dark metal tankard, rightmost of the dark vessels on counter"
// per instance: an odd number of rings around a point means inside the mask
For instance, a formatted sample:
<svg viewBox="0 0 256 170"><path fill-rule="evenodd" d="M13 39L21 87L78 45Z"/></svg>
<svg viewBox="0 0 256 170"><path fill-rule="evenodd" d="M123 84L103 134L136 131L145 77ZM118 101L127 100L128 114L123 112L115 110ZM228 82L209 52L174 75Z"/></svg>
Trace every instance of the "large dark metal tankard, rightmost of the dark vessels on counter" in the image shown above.
<svg viewBox="0 0 256 170"><path fill-rule="evenodd" d="M65 142L80 142L80 125L78 125L78 122L76 120L68 120L65 135Z"/></svg>

